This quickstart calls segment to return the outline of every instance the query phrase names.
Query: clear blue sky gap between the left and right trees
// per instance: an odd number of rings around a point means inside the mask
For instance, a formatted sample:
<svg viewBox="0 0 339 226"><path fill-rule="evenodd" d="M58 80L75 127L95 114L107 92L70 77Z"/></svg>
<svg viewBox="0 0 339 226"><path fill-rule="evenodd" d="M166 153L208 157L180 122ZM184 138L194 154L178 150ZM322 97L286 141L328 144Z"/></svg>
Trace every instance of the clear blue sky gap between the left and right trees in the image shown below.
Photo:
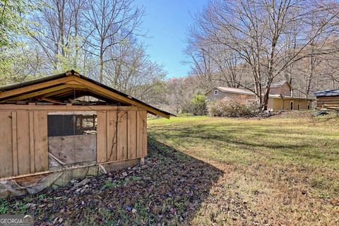
<svg viewBox="0 0 339 226"><path fill-rule="evenodd" d="M143 30L148 37L143 42L150 59L165 66L167 78L186 76L190 67L182 64L186 29L206 0L136 0L135 4L145 8Z"/></svg>

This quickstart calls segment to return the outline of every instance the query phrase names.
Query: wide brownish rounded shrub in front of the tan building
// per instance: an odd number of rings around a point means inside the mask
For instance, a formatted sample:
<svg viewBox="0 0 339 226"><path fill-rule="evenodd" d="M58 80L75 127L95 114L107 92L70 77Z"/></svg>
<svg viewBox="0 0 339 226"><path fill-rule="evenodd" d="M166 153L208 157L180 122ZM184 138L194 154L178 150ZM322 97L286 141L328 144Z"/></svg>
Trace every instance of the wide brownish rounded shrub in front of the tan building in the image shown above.
<svg viewBox="0 0 339 226"><path fill-rule="evenodd" d="M258 112L258 105L244 98L224 98L209 104L213 117L252 117Z"/></svg>

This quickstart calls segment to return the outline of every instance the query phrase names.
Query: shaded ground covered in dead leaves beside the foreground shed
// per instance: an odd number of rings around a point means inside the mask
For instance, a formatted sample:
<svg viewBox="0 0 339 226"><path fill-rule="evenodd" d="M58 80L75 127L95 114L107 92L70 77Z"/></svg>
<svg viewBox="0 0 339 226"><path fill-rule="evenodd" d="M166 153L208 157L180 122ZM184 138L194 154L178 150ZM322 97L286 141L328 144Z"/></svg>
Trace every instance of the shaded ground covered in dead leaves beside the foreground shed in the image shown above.
<svg viewBox="0 0 339 226"><path fill-rule="evenodd" d="M145 165L8 198L0 214L34 215L35 225L189 224L222 171L153 139Z"/></svg>

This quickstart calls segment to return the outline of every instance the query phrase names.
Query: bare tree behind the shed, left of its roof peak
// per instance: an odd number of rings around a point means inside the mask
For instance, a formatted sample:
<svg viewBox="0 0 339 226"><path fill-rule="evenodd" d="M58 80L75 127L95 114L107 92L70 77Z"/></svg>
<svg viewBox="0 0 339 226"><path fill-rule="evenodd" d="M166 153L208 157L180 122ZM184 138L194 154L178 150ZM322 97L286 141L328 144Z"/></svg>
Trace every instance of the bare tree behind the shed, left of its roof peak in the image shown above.
<svg viewBox="0 0 339 226"><path fill-rule="evenodd" d="M83 0L45 1L40 11L30 18L30 37L42 48L54 71L62 67L64 59L71 58L73 49L78 52L79 40L76 38L80 37L83 4ZM75 66L76 59L73 58Z"/></svg>

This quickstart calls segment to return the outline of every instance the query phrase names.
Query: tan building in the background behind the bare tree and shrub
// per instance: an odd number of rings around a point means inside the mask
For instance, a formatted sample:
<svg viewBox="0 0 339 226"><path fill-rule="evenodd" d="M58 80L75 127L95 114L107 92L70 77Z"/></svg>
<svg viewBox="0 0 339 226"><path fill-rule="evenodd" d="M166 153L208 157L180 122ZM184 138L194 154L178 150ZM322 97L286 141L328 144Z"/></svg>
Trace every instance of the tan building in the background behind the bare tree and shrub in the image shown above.
<svg viewBox="0 0 339 226"><path fill-rule="evenodd" d="M292 88L286 81L272 83L268 99L268 109L278 110L302 110L311 109L313 99L293 97ZM215 87L206 93L207 101L222 100L228 98L244 98L249 102L256 101L256 95L250 90L240 88Z"/></svg>

